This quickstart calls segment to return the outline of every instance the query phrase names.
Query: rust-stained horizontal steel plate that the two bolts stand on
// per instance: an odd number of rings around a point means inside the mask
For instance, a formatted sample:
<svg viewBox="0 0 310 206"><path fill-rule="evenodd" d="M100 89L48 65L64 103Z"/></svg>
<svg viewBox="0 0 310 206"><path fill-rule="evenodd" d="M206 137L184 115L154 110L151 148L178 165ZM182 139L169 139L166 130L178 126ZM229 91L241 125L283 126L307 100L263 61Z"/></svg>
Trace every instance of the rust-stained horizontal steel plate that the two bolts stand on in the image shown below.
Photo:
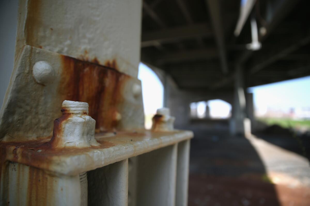
<svg viewBox="0 0 310 206"><path fill-rule="evenodd" d="M193 132L182 130L108 132L95 134L99 146L64 149L53 148L49 144L50 139L2 142L0 166L9 160L52 171L55 174L76 175L192 137Z"/></svg>

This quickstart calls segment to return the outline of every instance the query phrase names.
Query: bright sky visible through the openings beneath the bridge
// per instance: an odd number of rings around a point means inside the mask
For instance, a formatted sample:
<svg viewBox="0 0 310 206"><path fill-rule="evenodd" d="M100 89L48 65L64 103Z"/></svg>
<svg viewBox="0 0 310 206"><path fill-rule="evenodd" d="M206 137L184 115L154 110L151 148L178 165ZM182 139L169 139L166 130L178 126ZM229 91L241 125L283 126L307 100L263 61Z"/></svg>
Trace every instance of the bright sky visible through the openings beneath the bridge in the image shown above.
<svg viewBox="0 0 310 206"><path fill-rule="evenodd" d="M139 65L138 78L142 82L142 95L145 114L155 114L163 107L164 88L152 69L143 63ZM310 76L248 88L253 93L255 109L264 113L268 108L289 111L290 108L310 107ZM210 116L228 116L231 105L222 100L209 101ZM205 111L205 103L197 104L199 113Z"/></svg>

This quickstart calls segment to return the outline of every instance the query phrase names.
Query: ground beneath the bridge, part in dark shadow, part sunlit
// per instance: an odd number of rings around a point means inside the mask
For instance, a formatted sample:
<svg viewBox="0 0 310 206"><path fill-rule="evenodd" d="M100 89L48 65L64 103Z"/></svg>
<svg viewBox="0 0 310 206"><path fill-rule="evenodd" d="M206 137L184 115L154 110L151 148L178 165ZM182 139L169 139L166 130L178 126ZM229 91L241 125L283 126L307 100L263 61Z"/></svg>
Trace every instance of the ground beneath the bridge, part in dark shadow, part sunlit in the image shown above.
<svg viewBox="0 0 310 206"><path fill-rule="evenodd" d="M188 205L310 205L309 161L296 138L193 130Z"/></svg>

